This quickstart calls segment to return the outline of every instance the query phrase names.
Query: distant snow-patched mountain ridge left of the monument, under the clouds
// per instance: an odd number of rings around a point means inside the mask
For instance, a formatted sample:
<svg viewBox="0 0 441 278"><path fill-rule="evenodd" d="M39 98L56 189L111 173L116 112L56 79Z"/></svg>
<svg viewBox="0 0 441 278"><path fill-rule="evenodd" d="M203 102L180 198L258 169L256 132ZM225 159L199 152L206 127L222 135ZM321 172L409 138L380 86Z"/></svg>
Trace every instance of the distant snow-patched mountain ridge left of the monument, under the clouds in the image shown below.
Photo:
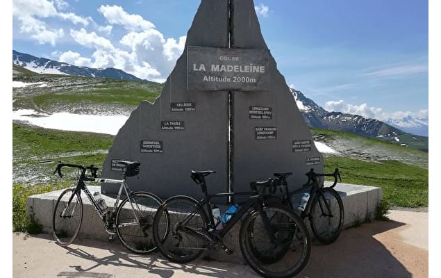
<svg viewBox="0 0 441 278"><path fill-rule="evenodd" d="M21 67L38 72L39 74L65 74L85 77L110 78L121 80L143 81L133 74L128 74L122 70L108 67L106 69L92 69L90 67L78 67L68 63L38 58L29 54L20 53L13 50L13 63Z"/></svg>

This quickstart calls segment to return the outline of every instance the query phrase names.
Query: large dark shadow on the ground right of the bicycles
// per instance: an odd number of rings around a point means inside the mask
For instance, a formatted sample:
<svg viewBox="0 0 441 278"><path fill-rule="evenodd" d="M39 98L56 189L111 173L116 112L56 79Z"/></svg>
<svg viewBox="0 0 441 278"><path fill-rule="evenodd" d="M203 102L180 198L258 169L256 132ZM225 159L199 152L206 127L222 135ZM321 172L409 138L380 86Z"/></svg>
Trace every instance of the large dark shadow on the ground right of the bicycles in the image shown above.
<svg viewBox="0 0 441 278"><path fill-rule="evenodd" d="M395 221L365 223L342 231L331 245L313 245L308 265L298 277L413 277L394 254L374 238L384 232L394 233L394 229L403 225Z"/></svg>

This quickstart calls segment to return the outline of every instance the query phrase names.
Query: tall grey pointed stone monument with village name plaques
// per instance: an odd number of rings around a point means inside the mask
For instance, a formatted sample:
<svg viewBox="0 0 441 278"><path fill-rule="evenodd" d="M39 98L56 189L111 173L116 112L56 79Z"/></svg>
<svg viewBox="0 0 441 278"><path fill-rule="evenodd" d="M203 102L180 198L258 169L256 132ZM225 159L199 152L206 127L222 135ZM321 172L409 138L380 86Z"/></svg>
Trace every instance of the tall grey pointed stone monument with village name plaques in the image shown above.
<svg viewBox="0 0 441 278"><path fill-rule="evenodd" d="M215 170L208 192L293 172L290 188L323 171L308 126L260 32L252 0L201 0L185 50L154 104L142 101L119 130L103 176L140 161L131 190L201 197L190 170ZM103 184L104 194L117 188ZM217 200L219 203L227 199Z"/></svg>

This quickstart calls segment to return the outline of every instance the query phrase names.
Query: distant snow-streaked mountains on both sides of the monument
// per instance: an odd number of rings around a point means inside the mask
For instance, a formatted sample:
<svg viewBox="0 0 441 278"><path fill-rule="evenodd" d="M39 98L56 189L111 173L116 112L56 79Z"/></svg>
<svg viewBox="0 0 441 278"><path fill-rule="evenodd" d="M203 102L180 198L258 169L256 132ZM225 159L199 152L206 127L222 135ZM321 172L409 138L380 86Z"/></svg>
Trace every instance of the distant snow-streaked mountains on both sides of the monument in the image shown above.
<svg viewBox="0 0 441 278"><path fill-rule="evenodd" d="M38 58L18 51L13 51L13 64L42 74L64 74L149 82L147 80L138 79L138 77L133 76L132 74L127 74L122 70L114 68L92 69L90 67L78 67L67 63L60 63L55 60L49 60L47 58ZM360 115L333 111L330 112L317 105L312 99L303 95L301 91L293 89L291 89L291 91L297 103L297 107L303 115L303 119L311 127L355 133L359 136L378 138L428 152L428 138L413 135L415 133L427 133L427 120L404 117L401 120L388 120L381 122Z"/></svg>

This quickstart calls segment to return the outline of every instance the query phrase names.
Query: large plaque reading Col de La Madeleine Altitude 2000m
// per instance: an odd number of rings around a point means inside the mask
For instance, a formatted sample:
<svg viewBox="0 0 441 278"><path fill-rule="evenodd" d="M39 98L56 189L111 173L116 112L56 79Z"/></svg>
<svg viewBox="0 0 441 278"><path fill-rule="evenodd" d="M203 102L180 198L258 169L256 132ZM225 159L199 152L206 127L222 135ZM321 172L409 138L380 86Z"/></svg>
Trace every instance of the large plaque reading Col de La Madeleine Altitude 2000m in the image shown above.
<svg viewBox="0 0 441 278"><path fill-rule="evenodd" d="M267 49L188 47L190 90L269 90Z"/></svg>

